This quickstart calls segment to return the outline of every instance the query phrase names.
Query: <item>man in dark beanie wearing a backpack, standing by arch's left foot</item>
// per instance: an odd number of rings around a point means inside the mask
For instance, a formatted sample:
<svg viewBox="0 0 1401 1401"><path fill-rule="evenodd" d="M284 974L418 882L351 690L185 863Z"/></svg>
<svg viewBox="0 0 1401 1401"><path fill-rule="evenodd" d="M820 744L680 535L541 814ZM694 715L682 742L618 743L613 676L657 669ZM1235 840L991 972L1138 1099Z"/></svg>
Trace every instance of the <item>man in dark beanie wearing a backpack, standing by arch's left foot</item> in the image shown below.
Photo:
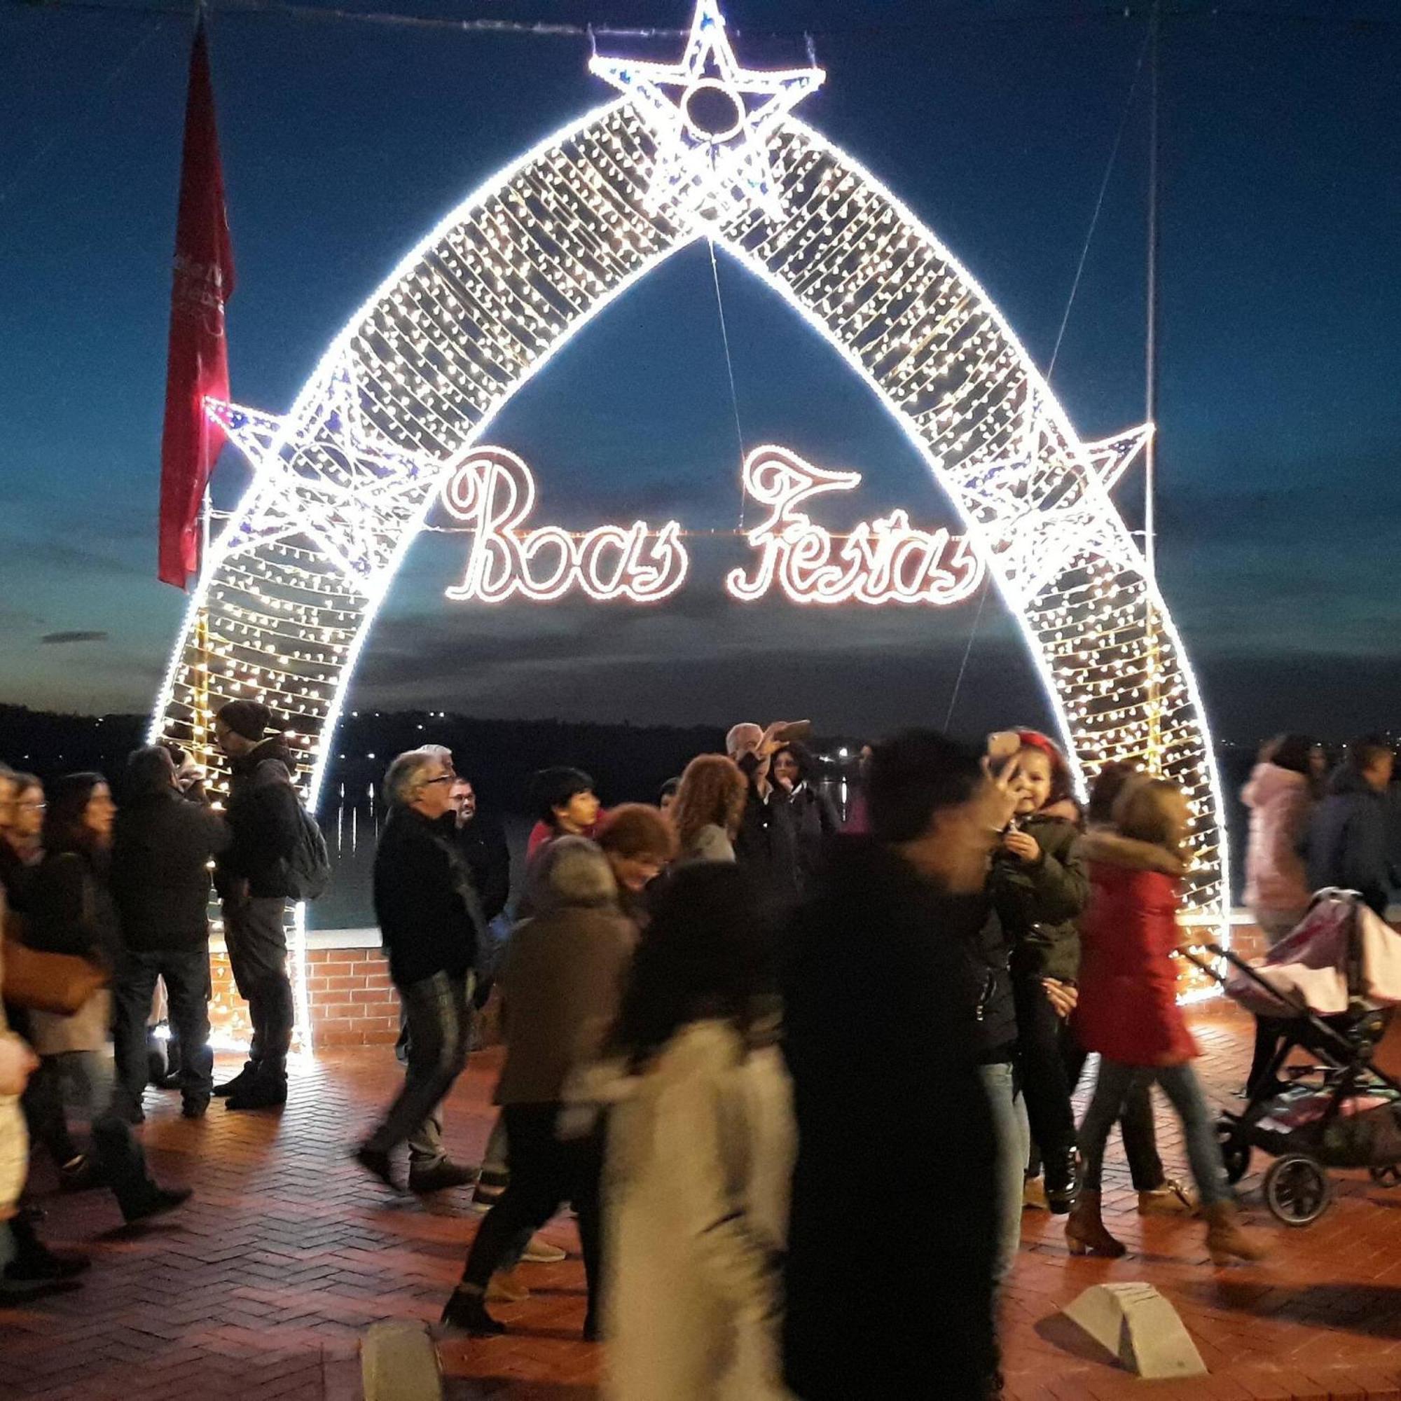
<svg viewBox="0 0 1401 1401"><path fill-rule="evenodd" d="M248 1063L214 1093L231 1110L287 1103L287 1051L294 1021L287 978L287 905L296 891L290 862L301 836L293 786L296 759L280 734L268 736L272 712L256 700L230 700L214 717L214 737L230 758L228 831L214 885L224 905L224 943L254 1040Z"/></svg>

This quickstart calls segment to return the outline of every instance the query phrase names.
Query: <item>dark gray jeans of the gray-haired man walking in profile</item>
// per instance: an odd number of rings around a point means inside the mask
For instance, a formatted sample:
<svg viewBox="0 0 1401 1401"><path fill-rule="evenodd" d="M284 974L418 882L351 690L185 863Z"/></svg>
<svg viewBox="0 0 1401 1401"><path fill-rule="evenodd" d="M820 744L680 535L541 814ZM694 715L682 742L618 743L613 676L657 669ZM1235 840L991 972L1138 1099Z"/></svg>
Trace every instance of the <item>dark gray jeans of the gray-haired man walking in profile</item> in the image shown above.
<svg viewBox="0 0 1401 1401"><path fill-rule="evenodd" d="M389 1153L409 1143L415 1167L434 1167L447 1156L439 1105L467 1065L472 1038L472 975L436 972L399 988L408 1019L403 1089L366 1147Z"/></svg>

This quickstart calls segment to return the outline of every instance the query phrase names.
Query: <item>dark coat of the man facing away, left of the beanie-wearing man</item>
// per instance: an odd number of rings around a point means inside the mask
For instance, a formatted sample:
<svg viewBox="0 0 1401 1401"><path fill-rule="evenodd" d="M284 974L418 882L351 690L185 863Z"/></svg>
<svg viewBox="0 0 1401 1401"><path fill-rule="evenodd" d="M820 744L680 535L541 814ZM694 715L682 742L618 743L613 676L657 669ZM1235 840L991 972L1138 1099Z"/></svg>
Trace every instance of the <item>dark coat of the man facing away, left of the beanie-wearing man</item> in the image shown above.
<svg viewBox="0 0 1401 1401"><path fill-rule="evenodd" d="M209 859L231 841L223 817L172 787L129 799L112 836L112 897L133 953L209 939Z"/></svg>

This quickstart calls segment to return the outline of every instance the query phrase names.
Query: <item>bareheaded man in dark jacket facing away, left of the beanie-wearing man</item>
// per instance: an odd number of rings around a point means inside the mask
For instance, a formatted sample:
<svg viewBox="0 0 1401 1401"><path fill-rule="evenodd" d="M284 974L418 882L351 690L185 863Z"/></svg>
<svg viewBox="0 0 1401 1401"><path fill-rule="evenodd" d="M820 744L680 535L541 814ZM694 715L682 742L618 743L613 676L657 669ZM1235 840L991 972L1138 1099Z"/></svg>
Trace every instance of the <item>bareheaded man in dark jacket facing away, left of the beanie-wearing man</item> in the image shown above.
<svg viewBox="0 0 1401 1401"><path fill-rule="evenodd" d="M118 1108L127 1118L140 1118L146 1021L157 978L165 979L181 1047L185 1118L202 1118L209 1108L209 859L228 842L224 820L198 797L181 794L167 750L156 745L130 757L112 838L112 895L122 923L112 1041Z"/></svg>

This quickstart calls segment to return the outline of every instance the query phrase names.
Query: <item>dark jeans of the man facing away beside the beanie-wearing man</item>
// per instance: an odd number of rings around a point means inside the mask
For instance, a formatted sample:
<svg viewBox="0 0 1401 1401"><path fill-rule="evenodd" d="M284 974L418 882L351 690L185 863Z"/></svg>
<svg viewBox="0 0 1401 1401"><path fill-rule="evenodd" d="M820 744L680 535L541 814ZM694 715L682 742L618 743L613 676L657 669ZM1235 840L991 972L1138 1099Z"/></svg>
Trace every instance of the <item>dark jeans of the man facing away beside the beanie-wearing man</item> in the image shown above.
<svg viewBox="0 0 1401 1401"><path fill-rule="evenodd" d="M118 1100L122 1108L142 1103L149 1075L146 1023L156 979L165 982L171 1038L181 1048L181 1094L209 1100L214 1090L214 1052L209 1049L209 946L127 950L112 982Z"/></svg>

